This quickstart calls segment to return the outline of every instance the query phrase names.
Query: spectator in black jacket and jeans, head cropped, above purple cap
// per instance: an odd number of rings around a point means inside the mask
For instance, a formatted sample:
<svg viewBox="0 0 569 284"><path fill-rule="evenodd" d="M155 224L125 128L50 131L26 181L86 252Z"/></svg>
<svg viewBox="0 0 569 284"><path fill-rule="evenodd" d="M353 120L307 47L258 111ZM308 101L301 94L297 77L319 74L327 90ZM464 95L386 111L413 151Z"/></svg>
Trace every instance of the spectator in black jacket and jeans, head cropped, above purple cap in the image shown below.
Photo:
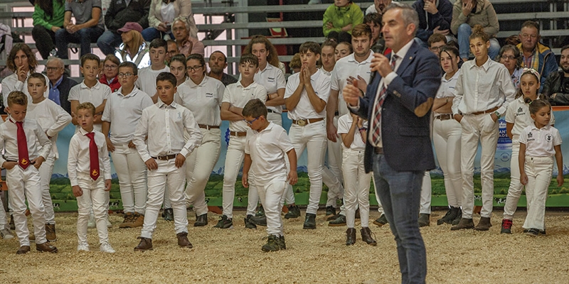
<svg viewBox="0 0 569 284"><path fill-rule="evenodd" d="M97 40L97 45L102 53L105 55L115 53L115 48L122 41L121 33L118 30L123 28L126 23L138 23L141 31L142 28L147 28L149 10L150 0L111 1L109 9L105 13L107 31Z"/></svg>

